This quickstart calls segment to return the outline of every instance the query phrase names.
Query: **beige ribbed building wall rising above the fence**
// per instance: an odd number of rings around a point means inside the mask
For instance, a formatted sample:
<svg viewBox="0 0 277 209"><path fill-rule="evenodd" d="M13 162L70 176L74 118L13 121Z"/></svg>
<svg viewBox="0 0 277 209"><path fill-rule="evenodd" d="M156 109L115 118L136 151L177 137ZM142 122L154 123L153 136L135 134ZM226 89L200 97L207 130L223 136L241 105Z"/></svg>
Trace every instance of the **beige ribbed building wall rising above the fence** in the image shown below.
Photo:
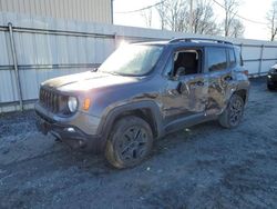
<svg viewBox="0 0 277 209"><path fill-rule="evenodd" d="M112 0L0 0L0 11L112 23Z"/></svg>

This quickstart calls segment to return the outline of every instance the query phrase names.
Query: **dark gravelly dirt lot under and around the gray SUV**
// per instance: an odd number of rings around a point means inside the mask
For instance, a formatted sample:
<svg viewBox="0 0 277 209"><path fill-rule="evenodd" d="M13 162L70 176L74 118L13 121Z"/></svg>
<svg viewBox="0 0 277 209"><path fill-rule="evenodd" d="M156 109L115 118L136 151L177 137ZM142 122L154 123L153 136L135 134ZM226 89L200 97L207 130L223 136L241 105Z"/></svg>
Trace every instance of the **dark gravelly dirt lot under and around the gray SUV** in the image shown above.
<svg viewBox="0 0 277 209"><path fill-rule="evenodd" d="M129 170L39 133L34 112L0 117L0 208L277 208L277 92L252 80L234 130L170 135Z"/></svg>

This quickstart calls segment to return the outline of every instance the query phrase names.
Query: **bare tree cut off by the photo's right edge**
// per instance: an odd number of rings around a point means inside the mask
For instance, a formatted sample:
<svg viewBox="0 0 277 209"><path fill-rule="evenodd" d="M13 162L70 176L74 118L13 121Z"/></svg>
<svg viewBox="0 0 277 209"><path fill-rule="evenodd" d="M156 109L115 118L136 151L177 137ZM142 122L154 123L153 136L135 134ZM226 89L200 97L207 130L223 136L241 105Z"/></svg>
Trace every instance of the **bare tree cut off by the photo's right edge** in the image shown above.
<svg viewBox="0 0 277 209"><path fill-rule="evenodd" d="M274 41L277 34L277 1L271 4L271 9L267 12L266 19L270 30L270 40Z"/></svg>

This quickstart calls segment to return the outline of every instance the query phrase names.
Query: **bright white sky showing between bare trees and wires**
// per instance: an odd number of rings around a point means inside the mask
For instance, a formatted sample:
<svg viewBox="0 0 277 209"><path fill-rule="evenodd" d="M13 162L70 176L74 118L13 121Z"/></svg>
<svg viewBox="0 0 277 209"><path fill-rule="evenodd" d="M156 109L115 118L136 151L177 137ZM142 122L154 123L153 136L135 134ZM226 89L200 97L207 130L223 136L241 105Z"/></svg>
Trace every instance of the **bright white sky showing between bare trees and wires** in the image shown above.
<svg viewBox="0 0 277 209"><path fill-rule="evenodd" d="M145 20L142 12L121 13L125 11L133 11L136 9L152 6L161 0L114 0L114 23L122 26L143 27L146 28ZM223 4L223 0L217 0ZM273 0L240 0L238 8L238 14L257 21L267 22L266 13L271 8ZM217 21L224 19L224 10L219 6L212 3ZM158 16L155 10L152 11L152 27L160 29ZM240 19L245 26L244 38L257 39L257 40L269 40L270 32L266 24L253 23Z"/></svg>

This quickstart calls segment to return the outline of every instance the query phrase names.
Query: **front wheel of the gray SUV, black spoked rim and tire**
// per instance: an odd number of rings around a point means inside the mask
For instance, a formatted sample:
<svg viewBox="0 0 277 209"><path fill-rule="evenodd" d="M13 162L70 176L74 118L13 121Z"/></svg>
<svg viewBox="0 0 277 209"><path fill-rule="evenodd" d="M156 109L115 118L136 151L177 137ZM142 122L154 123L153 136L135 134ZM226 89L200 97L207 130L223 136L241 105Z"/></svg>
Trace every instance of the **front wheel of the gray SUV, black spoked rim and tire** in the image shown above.
<svg viewBox="0 0 277 209"><path fill-rule="evenodd" d="M115 168L133 167L148 156L152 145L150 125L138 117L124 117L115 123L107 139L105 158Z"/></svg>

